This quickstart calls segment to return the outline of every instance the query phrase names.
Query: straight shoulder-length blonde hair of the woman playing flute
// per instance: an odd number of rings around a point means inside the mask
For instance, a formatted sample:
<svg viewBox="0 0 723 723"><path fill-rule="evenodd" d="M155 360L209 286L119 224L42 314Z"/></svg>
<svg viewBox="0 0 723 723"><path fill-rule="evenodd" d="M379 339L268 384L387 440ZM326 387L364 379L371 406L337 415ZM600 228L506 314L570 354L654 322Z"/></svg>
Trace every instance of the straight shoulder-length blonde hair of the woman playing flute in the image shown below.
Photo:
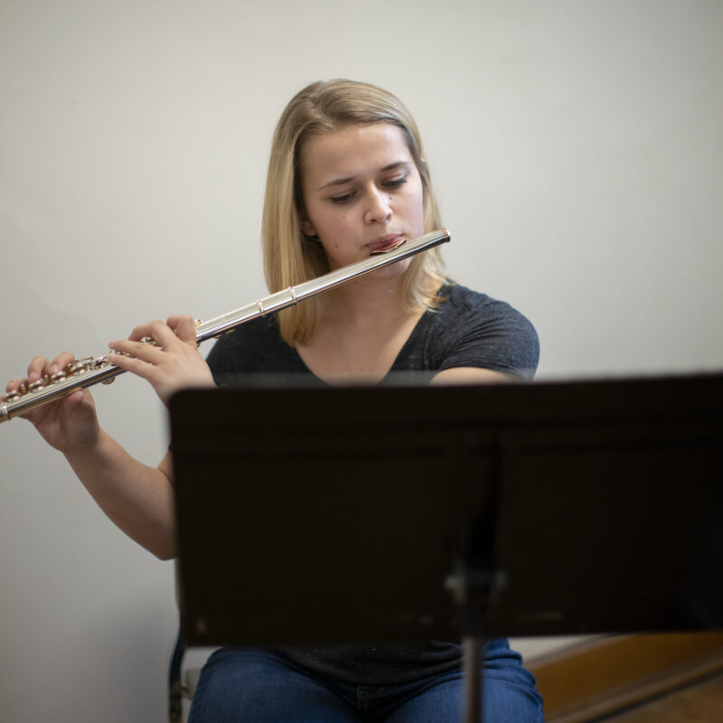
<svg viewBox="0 0 723 723"><path fill-rule="evenodd" d="M391 123L401 128L422 180L424 232L441 227L417 124L407 108L386 90L352 80L316 82L299 91L282 113L271 146L264 199L262 239L264 270L271 293L329 271L324 249L301 230L304 201L301 192L301 149L310 136L342 127ZM434 308L444 282L438 249L413 257L402 282L408 311ZM307 342L315 330L319 297L285 309L278 315L286 343Z"/></svg>

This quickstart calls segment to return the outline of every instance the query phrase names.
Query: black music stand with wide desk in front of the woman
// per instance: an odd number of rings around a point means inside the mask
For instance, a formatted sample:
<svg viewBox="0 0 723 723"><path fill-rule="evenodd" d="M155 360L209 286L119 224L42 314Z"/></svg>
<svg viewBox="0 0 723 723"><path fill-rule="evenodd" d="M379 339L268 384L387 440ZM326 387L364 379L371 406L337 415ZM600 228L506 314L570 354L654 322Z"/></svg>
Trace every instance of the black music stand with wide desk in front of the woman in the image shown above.
<svg viewBox="0 0 723 723"><path fill-rule="evenodd" d="M465 638L478 720L489 635L723 627L721 402L719 375L180 392L186 641Z"/></svg>

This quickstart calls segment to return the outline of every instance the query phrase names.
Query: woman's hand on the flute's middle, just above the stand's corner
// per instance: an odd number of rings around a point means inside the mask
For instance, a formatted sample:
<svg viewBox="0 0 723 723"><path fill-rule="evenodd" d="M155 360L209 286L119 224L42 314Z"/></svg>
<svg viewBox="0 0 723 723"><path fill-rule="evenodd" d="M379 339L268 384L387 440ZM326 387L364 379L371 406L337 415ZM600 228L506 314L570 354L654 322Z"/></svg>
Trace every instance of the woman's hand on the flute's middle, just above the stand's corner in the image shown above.
<svg viewBox="0 0 723 723"><path fill-rule="evenodd" d="M155 343L141 341L147 337ZM166 407L175 391L215 386L211 370L198 352L196 324L191 316L173 315L165 324L141 324L127 339L108 346L108 361L150 382Z"/></svg>

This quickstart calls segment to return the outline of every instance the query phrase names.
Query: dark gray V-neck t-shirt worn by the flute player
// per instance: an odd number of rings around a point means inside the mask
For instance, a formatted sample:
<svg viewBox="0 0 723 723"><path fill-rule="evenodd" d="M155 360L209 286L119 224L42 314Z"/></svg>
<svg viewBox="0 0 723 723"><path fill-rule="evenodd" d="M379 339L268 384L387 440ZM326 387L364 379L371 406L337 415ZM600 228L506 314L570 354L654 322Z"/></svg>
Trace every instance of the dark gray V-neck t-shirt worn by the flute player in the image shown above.
<svg viewBox="0 0 723 723"><path fill-rule="evenodd" d="M426 373L455 367L504 371L531 380L540 346L532 324L509 304L465 286L443 286L446 301L419 319L391 367L387 380L401 372ZM281 338L276 317L261 317L222 336L208 357L221 386L246 374L304 374L317 380L296 349ZM324 383L317 380L319 383ZM324 678L356 685L415 681L459 667L460 646L377 643L322 648L283 647L279 652Z"/></svg>

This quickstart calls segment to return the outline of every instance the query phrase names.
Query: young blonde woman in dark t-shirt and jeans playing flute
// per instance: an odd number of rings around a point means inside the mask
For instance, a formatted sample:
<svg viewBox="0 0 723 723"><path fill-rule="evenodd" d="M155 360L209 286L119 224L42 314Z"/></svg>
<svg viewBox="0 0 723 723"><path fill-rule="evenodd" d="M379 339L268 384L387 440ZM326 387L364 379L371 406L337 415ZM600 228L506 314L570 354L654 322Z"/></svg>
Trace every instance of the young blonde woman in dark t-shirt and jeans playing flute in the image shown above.
<svg viewBox="0 0 723 723"><path fill-rule="evenodd" d="M286 107L274 136L263 219L269 290L343 267L440 227L417 126L390 93L346 80L315 83ZM158 346L141 343L152 336ZM437 249L358 278L196 349L192 318L136 327L110 361L148 380L164 402L184 386L241 374L299 373L319 383L378 383L426 372L431 383L530 379L538 340L500 301L446 280ZM117 353L122 352L122 353ZM26 381L70 362L36 357ZM21 380L8 383L16 389ZM108 516L161 558L174 555L172 465L131 458L99 427L88 390L28 417ZM202 671L192 723L461 718L454 643L233 649ZM505 641L484 657L484 720L538 721L531 674Z"/></svg>

